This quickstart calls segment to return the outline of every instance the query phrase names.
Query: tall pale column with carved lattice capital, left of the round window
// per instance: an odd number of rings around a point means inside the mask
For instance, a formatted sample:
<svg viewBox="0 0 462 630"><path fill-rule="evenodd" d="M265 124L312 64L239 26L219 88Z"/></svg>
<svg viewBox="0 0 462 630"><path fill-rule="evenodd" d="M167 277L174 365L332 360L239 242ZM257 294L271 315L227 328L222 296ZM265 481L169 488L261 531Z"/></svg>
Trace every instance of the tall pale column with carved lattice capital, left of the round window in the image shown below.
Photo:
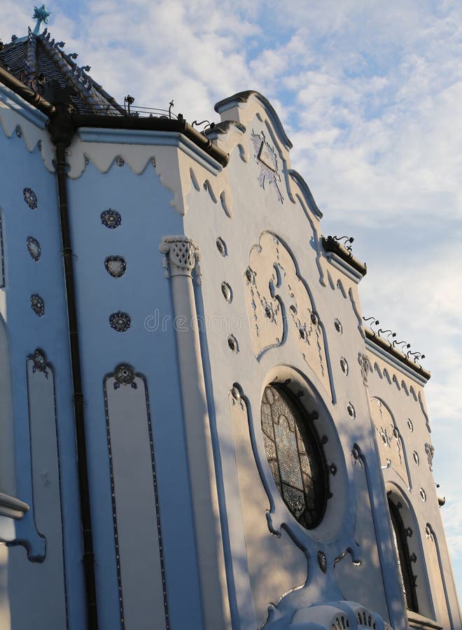
<svg viewBox="0 0 462 630"><path fill-rule="evenodd" d="M200 251L183 235L163 237L159 249L172 290L204 630L221 630L228 626L229 608L193 286L194 269L200 284Z"/></svg>

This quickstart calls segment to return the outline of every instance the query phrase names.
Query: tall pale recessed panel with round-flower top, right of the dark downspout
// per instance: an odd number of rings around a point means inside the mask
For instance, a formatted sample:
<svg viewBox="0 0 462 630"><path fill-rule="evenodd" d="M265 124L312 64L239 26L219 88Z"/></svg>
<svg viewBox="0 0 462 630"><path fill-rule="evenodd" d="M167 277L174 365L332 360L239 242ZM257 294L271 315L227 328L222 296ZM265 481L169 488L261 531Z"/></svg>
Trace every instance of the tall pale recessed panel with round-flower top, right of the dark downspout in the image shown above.
<svg viewBox="0 0 462 630"><path fill-rule="evenodd" d="M168 630L146 384L130 366L118 366L105 395L121 626Z"/></svg>

